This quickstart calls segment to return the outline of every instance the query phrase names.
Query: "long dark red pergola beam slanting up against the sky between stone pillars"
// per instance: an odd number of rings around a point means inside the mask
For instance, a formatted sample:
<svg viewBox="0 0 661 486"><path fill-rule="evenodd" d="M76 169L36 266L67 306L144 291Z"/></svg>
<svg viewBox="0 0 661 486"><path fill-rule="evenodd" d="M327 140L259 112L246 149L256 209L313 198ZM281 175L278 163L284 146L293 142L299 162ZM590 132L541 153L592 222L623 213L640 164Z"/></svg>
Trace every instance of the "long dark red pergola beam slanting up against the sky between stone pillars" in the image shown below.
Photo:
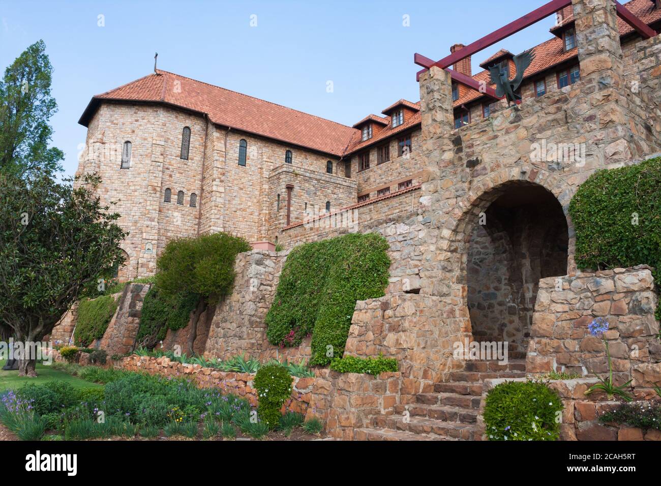
<svg viewBox="0 0 661 486"><path fill-rule="evenodd" d="M484 36L483 38L476 40L472 44L469 44L465 48L461 48L449 56L446 56L440 61L436 61L432 65L441 67L442 69L445 69L448 66L451 66L462 59L467 58L468 56L473 56L473 54L476 54L477 52L480 52L483 49L488 48L489 46L492 46L493 44L496 44L496 42L500 42L501 40L508 38L512 34L516 34L516 32L519 32L520 30L523 30L526 27L531 26L532 24L535 24L536 22L539 22L539 20L546 19L549 17L549 15L552 15L556 13L557 11L564 9L564 7L567 7L568 5L572 4L572 0L551 0L549 3L546 3L545 5L542 5L539 7L539 9L535 9L530 13L525 14L523 17L520 17L520 19L514 20L514 22L510 22L504 27L499 28L498 30L494 30L494 32L491 32L490 34ZM416 56L420 56L419 54L416 54ZM432 67L431 65L424 65L416 61L417 57L414 57L414 61L418 65L422 65L422 67L425 67L426 69L429 69ZM424 56L420 56L420 58L424 58ZM428 58L424 58L428 59ZM423 72L424 70L423 69Z"/></svg>

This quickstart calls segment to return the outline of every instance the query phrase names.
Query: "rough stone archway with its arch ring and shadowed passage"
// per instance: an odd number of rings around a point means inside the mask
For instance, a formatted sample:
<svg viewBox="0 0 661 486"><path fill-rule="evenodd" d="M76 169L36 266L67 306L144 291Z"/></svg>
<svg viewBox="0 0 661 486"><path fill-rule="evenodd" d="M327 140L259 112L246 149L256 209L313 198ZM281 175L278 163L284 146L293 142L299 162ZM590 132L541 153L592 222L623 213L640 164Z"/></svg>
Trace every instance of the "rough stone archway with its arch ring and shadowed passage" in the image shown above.
<svg viewBox="0 0 661 486"><path fill-rule="evenodd" d="M437 295L459 298L457 315L465 316L464 329L476 340L513 339L516 351L510 349L510 355L512 358L524 357L539 278L576 272L573 259L573 228L567 214L574 188L552 173L543 169L531 170L529 167L501 169L479 181L469 181L467 184L469 185L465 188L465 195L458 198L456 204L448 208L443 217L444 226L447 228L444 230L444 241L440 247L444 250L441 257L445 262L442 272L444 278L438 284L438 290L442 290L442 294ZM539 214L525 211L526 204L535 204L535 201L555 205L555 216L552 218L555 224L535 224L539 222ZM519 211L520 215L513 223L508 215L512 216L512 212L516 211ZM481 214L486 215L490 225L479 224ZM562 241L556 242L561 249L557 248L558 245L549 246L546 242L557 240L559 233L564 235ZM483 245L491 250L491 254L484 255L482 261L481 257L470 253L471 238L475 235L481 237ZM526 259L521 259L524 241ZM473 243L475 246L475 240ZM558 256L559 253L561 257ZM533 259L529 258L531 254L535 255ZM492 261L488 261L489 259ZM485 325L484 321L481 321L480 314L495 312L496 305L492 308L484 305L483 309L479 309L479 299L471 297L471 292L479 288L476 278L473 278L471 283L471 272L473 277L477 276L475 265L488 263L509 271L506 275L497 271L488 272L486 275L502 276L500 282L496 280L495 285L500 287L497 288L495 298L493 294L486 297L494 298L495 302L499 302L500 298L500 315L496 313L494 320L497 322L501 317L506 317L505 325L499 323L492 329L489 329L488 323ZM487 282L481 292L491 292L493 289L489 286L493 285L493 282Z"/></svg>

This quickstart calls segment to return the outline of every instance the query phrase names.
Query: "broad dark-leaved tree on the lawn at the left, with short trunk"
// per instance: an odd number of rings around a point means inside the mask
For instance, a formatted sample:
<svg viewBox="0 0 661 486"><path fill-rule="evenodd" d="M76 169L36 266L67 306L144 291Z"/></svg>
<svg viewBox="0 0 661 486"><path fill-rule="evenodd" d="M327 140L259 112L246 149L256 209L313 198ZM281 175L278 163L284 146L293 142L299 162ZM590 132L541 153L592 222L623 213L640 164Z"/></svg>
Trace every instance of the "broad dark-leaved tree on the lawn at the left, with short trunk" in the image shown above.
<svg viewBox="0 0 661 486"><path fill-rule="evenodd" d="M100 178L72 181L0 173L0 323L24 346L50 334L83 289L124 263L119 244L128 233L93 196ZM36 376L35 364L22 356L19 376Z"/></svg>

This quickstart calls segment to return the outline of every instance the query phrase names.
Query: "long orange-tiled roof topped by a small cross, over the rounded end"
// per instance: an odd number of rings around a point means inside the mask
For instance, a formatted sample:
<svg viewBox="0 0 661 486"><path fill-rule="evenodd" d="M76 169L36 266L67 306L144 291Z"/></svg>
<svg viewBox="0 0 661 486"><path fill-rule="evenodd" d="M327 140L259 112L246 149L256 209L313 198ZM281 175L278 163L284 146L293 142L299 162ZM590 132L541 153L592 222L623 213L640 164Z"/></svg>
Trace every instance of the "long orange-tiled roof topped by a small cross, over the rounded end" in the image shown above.
<svg viewBox="0 0 661 486"><path fill-rule="evenodd" d="M157 70L96 95L79 123L87 126L104 100L159 102L206 114L212 123L341 156L357 130L280 104Z"/></svg>

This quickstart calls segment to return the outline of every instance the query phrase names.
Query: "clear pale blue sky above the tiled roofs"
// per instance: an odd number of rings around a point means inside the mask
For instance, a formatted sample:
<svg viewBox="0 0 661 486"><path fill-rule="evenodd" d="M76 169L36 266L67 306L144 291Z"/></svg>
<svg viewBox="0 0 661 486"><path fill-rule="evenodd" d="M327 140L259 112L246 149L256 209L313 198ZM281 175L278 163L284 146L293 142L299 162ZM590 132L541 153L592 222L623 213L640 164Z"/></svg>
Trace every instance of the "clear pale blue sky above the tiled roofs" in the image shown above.
<svg viewBox="0 0 661 486"><path fill-rule="evenodd" d="M420 99L415 52L440 59L451 44L469 44L546 1L0 0L0 66L46 42L59 106L53 144L72 175L90 98L149 74L155 52L161 69L352 125L400 98ZM518 54L547 40L553 21L473 56L473 73L501 47Z"/></svg>

